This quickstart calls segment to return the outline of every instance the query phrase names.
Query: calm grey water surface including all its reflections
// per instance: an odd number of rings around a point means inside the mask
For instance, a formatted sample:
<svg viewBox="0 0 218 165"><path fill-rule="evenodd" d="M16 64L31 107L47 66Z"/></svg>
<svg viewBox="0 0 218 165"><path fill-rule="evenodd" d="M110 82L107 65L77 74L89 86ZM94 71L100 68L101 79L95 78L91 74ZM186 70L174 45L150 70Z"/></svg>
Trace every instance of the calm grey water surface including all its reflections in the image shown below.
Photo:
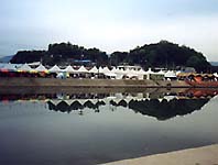
<svg viewBox="0 0 218 165"><path fill-rule="evenodd" d="M217 92L195 92L2 94L0 164L99 164L218 143Z"/></svg>

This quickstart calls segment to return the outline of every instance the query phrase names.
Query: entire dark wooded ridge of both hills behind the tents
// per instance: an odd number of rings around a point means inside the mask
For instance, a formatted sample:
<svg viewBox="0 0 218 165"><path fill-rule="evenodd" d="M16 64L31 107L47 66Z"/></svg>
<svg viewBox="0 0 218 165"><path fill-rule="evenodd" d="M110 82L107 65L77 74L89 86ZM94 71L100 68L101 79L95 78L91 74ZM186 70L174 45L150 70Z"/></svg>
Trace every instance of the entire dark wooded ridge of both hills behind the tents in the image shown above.
<svg viewBox="0 0 218 165"><path fill-rule="evenodd" d="M161 41L156 44L138 46L129 52L115 52L110 56L98 48L85 48L70 43L50 44L47 51L22 51L18 52L11 63L43 62L54 65L72 61L91 61L97 65L141 65L143 67L167 67L177 66L195 67L198 72L210 69L206 57L187 46Z"/></svg>

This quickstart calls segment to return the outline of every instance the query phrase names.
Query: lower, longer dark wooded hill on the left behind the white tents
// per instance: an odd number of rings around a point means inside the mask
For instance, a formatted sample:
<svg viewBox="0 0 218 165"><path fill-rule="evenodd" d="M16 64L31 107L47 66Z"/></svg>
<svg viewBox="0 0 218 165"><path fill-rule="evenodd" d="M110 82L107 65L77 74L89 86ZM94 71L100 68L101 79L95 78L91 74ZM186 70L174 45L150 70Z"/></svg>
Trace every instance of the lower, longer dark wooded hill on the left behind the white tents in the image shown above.
<svg viewBox="0 0 218 165"><path fill-rule="evenodd" d="M97 65L107 65L108 55L98 48L84 48L70 43L50 44L48 51L18 52L11 63L31 63L42 61L43 64L54 65L70 61L91 61Z"/></svg>

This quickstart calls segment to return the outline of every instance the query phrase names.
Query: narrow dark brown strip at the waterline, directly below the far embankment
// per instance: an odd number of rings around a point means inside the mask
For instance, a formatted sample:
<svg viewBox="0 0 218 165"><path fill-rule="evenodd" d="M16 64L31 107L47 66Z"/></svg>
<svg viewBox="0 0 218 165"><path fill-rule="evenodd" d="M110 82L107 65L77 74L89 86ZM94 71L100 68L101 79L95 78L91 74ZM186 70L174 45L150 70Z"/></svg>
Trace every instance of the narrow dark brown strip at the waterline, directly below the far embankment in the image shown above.
<svg viewBox="0 0 218 165"><path fill-rule="evenodd" d="M1 94L13 94L13 95L28 95L28 94L117 94L117 92L128 92L128 94L137 94L137 92L143 92L143 94L165 94L165 92L184 92L187 88L121 88L121 87L115 87L115 88L90 88L90 87L4 87L0 88L0 95Z"/></svg>

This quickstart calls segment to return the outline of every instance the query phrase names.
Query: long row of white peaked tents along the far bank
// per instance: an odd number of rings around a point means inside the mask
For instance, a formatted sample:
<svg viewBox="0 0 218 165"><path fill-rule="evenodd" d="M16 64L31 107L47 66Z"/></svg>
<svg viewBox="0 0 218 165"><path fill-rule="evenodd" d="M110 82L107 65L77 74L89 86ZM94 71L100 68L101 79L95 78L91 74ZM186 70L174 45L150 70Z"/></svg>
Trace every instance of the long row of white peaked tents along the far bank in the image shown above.
<svg viewBox="0 0 218 165"><path fill-rule="evenodd" d="M131 67L130 68L118 68L118 67L112 67L112 69L109 69L107 66L106 67L99 67L97 68L94 66L90 69L87 69L85 66L80 66L79 68L75 69L73 66L68 65L65 68L61 68L57 65L54 65L53 67L46 68L44 65L40 64L36 68L32 68L29 64L23 64L23 65L15 65L15 64L1 64L0 65L0 70L1 69L8 69L11 72L30 72L30 73L37 73L37 72L43 72L43 73L67 73L67 74L103 74L105 76L115 78L115 79L122 79L123 76L133 78L135 77L137 79L150 79L151 75L161 75L165 78L176 78L176 73L173 70L167 70L167 72L152 72L151 68L149 70L143 70L142 68L140 69L134 69Z"/></svg>

